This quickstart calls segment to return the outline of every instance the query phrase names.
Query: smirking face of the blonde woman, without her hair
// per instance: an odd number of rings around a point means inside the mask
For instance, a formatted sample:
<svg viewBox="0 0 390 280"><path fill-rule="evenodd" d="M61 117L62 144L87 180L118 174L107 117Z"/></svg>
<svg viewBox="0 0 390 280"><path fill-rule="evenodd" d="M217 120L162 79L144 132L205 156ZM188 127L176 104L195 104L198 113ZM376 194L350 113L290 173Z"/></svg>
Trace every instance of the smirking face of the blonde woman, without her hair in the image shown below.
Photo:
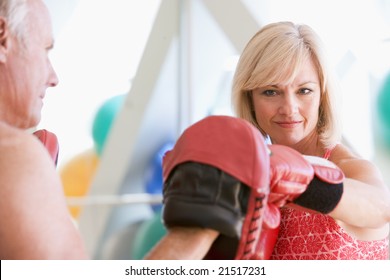
<svg viewBox="0 0 390 280"><path fill-rule="evenodd" d="M316 134L320 96L318 73L308 59L292 83L253 90L257 123L272 143L293 146Z"/></svg>

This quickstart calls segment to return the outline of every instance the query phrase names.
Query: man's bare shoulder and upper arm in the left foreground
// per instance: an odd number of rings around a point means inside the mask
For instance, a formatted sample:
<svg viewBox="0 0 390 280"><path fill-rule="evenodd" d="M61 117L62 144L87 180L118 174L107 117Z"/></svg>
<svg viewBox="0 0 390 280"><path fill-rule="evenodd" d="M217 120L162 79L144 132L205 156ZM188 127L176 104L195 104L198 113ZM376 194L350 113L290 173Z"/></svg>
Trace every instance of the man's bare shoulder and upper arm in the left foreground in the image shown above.
<svg viewBox="0 0 390 280"><path fill-rule="evenodd" d="M0 123L0 258L85 259L55 165L41 142Z"/></svg>

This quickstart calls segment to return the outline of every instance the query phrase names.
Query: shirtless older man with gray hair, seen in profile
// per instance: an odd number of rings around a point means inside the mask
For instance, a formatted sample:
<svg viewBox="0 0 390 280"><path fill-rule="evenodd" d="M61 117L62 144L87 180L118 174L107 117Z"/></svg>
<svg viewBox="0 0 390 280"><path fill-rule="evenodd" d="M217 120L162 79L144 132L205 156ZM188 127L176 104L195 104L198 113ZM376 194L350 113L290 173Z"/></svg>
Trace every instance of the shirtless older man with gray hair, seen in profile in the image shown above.
<svg viewBox="0 0 390 280"><path fill-rule="evenodd" d="M85 259L55 165L26 130L58 79L42 0L0 0L0 259Z"/></svg>

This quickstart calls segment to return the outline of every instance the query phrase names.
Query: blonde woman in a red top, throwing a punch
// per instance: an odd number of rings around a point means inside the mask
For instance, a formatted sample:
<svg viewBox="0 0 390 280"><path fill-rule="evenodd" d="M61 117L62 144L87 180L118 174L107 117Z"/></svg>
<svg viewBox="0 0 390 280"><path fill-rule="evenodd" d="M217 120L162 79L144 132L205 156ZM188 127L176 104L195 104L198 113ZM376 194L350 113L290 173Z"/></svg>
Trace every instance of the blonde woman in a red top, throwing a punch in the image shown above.
<svg viewBox="0 0 390 280"><path fill-rule="evenodd" d="M321 42L307 25L265 26L248 43L233 80L239 117L273 144L324 157L345 174L328 215L282 209L274 259L387 259L389 191L378 169L340 143L334 89Z"/></svg>

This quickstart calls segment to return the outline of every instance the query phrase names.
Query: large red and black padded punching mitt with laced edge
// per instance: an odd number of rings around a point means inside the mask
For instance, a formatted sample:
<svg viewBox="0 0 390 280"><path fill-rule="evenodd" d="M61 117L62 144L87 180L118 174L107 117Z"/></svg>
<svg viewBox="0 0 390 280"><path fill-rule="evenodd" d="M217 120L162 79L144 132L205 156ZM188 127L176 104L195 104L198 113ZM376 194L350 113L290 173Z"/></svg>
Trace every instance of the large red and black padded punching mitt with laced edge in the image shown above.
<svg viewBox="0 0 390 280"><path fill-rule="evenodd" d="M259 245L262 225L276 228L280 219L279 212L265 213L269 167L264 138L249 122L228 116L198 121L163 159L164 224L217 230L221 239L230 238L221 247L238 241L235 259L269 257Z"/></svg>

